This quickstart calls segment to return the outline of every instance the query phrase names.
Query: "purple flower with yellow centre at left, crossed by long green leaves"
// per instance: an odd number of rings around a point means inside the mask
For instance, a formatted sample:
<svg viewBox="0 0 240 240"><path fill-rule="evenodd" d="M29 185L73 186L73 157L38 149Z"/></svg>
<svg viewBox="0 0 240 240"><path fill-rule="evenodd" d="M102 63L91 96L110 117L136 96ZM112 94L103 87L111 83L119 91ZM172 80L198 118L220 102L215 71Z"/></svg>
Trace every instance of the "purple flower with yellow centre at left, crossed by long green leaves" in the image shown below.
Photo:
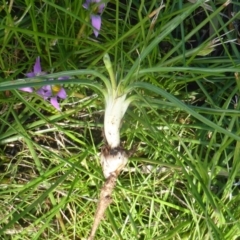
<svg viewBox="0 0 240 240"><path fill-rule="evenodd" d="M33 67L33 72L27 73L27 77L35 77L40 75L45 75L46 72L42 72L41 64L40 64L40 57L37 57L36 62ZM69 77L59 77L58 80L65 80ZM20 90L25 92L33 92L33 88L31 87L24 87L20 88ZM55 107L57 110L60 111L60 106L58 103L58 97L61 99L65 99L67 97L66 91L64 88L62 88L60 85L46 85L41 87L39 90L37 90L37 94L41 96L44 100L47 100L50 98L50 103Z"/></svg>

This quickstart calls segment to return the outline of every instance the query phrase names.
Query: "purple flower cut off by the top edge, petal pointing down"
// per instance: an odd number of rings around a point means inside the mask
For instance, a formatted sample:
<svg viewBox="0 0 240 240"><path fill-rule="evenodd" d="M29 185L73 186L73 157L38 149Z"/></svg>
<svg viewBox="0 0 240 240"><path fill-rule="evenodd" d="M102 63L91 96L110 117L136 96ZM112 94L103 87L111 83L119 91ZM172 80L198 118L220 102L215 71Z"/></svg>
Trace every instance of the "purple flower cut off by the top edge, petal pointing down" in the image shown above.
<svg viewBox="0 0 240 240"><path fill-rule="evenodd" d="M99 31L101 29L101 23L102 23L101 16L99 14L103 12L103 9L105 7L105 3L100 4L100 2L101 0L86 0L86 2L83 4L83 7L85 9L89 9L91 4L97 3L97 7L93 9L93 13L91 13L90 15L92 26L93 26L93 32L96 37L99 34Z"/></svg>

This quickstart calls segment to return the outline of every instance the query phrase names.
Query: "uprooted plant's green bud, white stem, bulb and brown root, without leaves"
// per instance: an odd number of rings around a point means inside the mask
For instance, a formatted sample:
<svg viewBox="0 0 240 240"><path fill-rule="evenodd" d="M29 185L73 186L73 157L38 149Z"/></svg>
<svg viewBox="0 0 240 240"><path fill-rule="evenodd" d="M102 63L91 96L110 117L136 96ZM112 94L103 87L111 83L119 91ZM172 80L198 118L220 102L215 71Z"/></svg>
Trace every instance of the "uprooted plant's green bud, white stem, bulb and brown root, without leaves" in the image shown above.
<svg viewBox="0 0 240 240"><path fill-rule="evenodd" d="M104 56L104 63L111 80L111 87L105 93L104 134L106 145L102 148L100 156L103 175L106 181L101 189L89 240L94 239L104 212L112 201L111 195L116 185L117 177L128 161L127 153L121 147L120 124L129 106L130 99L126 99L127 94L121 91L120 85L117 86L116 84L108 54Z"/></svg>

